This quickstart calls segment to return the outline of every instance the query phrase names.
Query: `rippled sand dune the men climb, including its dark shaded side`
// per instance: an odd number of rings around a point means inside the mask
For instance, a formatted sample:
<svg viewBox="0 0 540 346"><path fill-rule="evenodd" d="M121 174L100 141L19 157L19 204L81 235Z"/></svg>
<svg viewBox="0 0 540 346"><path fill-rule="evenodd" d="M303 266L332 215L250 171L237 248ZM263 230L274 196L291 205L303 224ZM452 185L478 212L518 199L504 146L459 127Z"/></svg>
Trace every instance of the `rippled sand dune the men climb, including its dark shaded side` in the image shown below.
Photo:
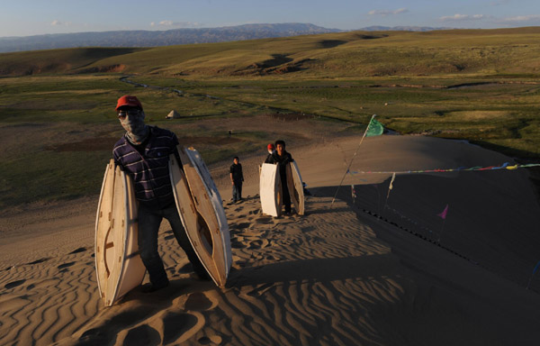
<svg viewBox="0 0 540 346"><path fill-rule="evenodd" d="M94 200L3 216L0 344L538 344L540 278L525 287L540 259L540 213L527 171L402 175L388 199L389 174L347 176L331 205L357 144L289 148L312 195L303 217L261 214L265 154L242 159L249 197L225 205L233 252L225 289L192 277L163 223L171 285L105 308ZM461 142L383 136L363 143L351 170L505 161ZM211 169L228 200L224 166Z"/></svg>

